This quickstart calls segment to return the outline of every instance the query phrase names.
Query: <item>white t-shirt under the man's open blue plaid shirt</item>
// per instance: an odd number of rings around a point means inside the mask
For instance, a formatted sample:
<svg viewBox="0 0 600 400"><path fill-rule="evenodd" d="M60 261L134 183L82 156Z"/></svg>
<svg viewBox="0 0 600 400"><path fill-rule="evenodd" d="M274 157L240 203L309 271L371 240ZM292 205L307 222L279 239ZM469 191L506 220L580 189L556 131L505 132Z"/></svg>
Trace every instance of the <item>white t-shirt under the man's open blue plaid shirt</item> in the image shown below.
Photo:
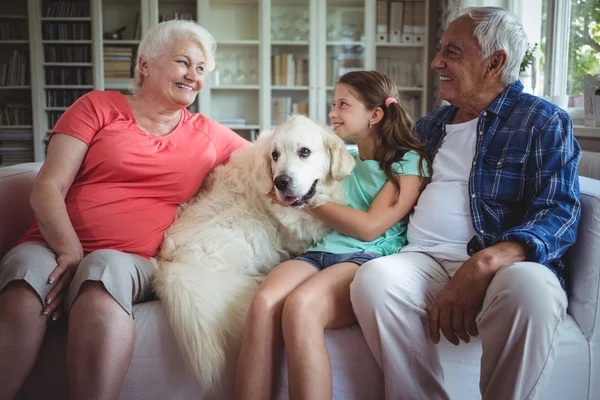
<svg viewBox="0 0 600 400"><path fill-rule="evenodd" d="M446 136L433 159L431 182L411 214L402 251L465 261L475 235L469 202L469 174L474 163L477 121L446 125Z"/></svg>

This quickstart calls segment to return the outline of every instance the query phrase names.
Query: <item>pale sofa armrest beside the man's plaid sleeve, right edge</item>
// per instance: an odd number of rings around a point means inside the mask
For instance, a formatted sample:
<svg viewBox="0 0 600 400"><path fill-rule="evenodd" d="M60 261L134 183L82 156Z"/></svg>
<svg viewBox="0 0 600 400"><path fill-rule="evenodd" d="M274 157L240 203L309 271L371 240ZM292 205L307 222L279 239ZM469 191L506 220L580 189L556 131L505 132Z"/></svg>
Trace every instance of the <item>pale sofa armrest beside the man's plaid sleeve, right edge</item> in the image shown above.
<svg viewBox="0 0 600 400"><path fill-rule="evenodd" d="M570 273L568 313L588 341L600 342L600 180L579 178L581 224L566 262Z"/></svg>

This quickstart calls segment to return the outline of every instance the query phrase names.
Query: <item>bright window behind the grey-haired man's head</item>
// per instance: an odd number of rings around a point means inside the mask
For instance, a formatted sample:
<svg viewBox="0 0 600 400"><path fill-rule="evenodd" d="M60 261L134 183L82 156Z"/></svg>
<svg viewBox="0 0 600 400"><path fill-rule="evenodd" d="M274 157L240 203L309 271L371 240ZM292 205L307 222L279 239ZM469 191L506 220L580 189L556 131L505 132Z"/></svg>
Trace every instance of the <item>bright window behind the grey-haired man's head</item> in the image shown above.
<svg viewBox="0 0 600 400"><path fill-rule="evenodd" d="M600 74L600 0L513 0L513 5L534 50L520 76L525 90L566 108L581 123L583 77Z"/></svg>

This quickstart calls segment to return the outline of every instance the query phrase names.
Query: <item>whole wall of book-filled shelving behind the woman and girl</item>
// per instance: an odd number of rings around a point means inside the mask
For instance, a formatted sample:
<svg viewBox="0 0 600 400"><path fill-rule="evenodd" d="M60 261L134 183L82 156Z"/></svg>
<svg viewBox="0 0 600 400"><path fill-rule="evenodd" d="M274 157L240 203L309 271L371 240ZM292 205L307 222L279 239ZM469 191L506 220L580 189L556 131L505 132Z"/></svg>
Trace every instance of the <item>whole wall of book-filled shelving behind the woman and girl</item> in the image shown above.
<svg viewBox="0 0 600 400"><path fill-rule="evenodd" d="M426 112L429 0L10 3L0 6L0 35L11 32L0 36L0 64L8 63L16 50L15 57L21 64L25 57L28 65L25 81L0 86L0 104L10 98L23 105L22 119L0 124L0 149L28 149L21 159L5 157L10 162L43 161L49 132L83 94L93 89L126 92L140 38L150 26L173 18L197 20L217 41L216 69L207 74L190 110L250 140L292 112L328 122L334 82L352 69L389 74L411 113L419 117ZM398 4L403 7L400 26L392 18ZM392 37L398 28L401 37ZM12 32L20 33L13 37Z"/></svg>

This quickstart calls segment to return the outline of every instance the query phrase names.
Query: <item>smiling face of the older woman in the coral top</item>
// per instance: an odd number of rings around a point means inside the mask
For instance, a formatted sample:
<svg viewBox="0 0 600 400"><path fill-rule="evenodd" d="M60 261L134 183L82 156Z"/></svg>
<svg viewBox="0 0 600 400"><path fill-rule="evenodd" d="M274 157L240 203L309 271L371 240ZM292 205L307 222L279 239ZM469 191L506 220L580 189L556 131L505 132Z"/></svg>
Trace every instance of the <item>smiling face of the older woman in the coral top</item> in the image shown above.
<svg viewBox="0 0 600 400"><path fill-rule="evenodd" d="M177 39L154 61L140 60L144 89L176 108L196 100L204 86L204 53L190 40Z"/></svg>

